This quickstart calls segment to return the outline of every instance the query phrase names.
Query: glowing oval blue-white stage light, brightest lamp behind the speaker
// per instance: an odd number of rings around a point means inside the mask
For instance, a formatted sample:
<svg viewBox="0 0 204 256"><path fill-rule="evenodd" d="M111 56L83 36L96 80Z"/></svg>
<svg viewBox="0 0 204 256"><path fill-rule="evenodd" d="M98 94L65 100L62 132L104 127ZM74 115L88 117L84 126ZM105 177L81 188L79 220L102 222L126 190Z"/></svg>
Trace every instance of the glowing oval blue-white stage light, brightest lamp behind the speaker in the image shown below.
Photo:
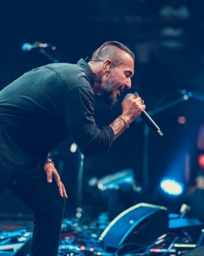
<svg viewBox="0 0 204 256"><path fill-rule="evenodd" d="M179 196L183 193L183 183L172 177L165 177L161 180L160 187L165 193L172 196Z"/></svg>

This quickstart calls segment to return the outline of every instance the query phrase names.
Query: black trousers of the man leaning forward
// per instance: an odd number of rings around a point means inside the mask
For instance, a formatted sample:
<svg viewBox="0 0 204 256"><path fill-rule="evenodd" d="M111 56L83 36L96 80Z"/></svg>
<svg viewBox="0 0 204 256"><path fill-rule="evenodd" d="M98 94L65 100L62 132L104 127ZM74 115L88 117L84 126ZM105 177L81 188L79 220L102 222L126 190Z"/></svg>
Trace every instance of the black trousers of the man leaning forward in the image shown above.
<svg viewBox="0 0 204 256"><path fill-rule="evenodd" d="M34 211L34 229L30 255L56 256L60 240L65 199L60 196L55 181L47 182L40 165L27 170L11 184L0 168L0 197L9 187Z"/></svg>

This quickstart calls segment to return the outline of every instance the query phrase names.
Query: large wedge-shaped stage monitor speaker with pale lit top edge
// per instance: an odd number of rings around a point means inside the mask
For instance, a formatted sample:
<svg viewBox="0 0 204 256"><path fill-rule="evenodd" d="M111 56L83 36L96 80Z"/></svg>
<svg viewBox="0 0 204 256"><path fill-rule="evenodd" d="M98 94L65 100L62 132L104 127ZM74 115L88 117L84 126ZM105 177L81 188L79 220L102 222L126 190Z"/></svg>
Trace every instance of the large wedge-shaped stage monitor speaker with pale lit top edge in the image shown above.
<svg viewBox="0 0 204 256"><path fill-rule="evenodd" d="M151 244L168 232L168 210L158 205L140 203L120 213L101 234L107 250L114 251L128 243Z"/></svg>

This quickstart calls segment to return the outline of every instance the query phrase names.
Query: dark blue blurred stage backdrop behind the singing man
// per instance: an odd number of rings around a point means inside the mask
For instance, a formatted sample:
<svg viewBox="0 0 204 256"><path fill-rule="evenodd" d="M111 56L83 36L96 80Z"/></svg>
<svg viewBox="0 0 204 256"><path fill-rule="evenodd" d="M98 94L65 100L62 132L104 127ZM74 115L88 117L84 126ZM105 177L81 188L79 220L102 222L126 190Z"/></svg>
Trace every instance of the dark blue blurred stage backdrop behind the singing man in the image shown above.
<svg viewBox="0 0 204 256"><path fill-rule="evenodd" d="M178 2L177 10L185 6L184 16L162 14L166 5L174 5L174 2ZM188 190L196 177L197 132L204 122L204 103L196 99L197 95L204 95L202 1L2 1L0 5L1 88L26 71L51 62L38 49L22 51L21 46L26 42L51 43L57 51L46 49L47 52L60 62L76 63L105 41L117 40L134 51L131 92L138 91L145 99L147 111L156 107L160 110L163 105L182 99L183 89L192 92L189 101L154 115L165 133L164 138L152 132L144 138L144 124L132 124L109 151L84 159L85 208L95 208L98 212L106 209L98 192L87 185L90 177L100 178L126 168L134 169L143 185L147 183L143 201L154 202L155 191L165 176L176 177L185 184L185 191ZM98 126L110 124L120 113L120 101L109 109L97 97L95 119ZM179 116L185 116L185 124L178 123ZM77 200L77 154L70 152L71 143L68 139L53 150L69 195L67 215L75 212ZM145 150L146 143L148 150ZM148 175L144 175L144 162ZM30 213L8 191L1 199L0 210L1 213Z"/></svg>

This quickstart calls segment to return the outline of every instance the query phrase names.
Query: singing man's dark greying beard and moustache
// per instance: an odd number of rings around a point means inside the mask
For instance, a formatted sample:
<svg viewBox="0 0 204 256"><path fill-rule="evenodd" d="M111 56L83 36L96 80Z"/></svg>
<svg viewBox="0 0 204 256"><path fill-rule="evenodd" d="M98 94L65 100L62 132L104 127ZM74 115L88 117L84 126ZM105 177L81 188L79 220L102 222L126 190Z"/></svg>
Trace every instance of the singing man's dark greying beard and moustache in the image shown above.
<svg viewBox="0 0 204 256"><path fill-rule="evenodd" d="M103 87L103 101L110 108L114 107L118 101L114 93L115 88L117 88L117 84L114 84L114 74L110 74Z"/></svg>

